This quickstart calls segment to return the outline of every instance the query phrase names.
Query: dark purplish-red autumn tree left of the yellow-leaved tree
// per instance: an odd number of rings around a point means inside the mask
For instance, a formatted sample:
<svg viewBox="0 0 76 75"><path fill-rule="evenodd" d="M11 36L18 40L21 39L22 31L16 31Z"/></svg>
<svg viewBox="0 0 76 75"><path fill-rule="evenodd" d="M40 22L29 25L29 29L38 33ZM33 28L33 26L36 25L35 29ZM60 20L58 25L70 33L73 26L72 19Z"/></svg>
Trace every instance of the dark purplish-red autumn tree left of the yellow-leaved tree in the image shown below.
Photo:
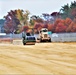
<svg viewBox="0 0 76 75"><path fill-rule="evenodd" d="M6 16L4 16L4 18L5 18L4 23L5 32L13 33L14 31L16 31L20 22L15 15L15 11L11 10L10 12L8 12Z"/></svg>

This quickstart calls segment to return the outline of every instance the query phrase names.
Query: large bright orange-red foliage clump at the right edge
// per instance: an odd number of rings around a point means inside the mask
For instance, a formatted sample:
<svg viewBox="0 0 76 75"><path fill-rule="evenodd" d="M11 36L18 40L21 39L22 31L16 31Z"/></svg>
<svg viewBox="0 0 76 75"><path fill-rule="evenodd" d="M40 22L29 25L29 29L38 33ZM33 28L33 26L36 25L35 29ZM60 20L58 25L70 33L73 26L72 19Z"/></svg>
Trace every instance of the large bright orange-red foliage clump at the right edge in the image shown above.
<svg viewBox="0 0 76 75"><path fill-rule="evenodd" d="M72 21L70 18L57 19L53 25L52 31L55 33L61 32L76 32L76 18Z"/></svg>

